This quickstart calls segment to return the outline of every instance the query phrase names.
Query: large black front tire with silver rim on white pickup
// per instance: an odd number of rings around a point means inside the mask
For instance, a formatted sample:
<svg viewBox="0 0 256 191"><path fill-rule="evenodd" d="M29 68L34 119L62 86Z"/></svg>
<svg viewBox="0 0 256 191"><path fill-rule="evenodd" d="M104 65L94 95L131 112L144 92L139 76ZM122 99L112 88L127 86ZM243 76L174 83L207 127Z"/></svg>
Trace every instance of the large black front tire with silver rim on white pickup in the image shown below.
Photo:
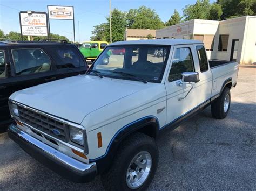
<svg viewBox="0 0 256 191"><path fill-rule="evenodd" d="M145 156L147 157L145 160L146 162L143 161ZM146 167L149 167L151 164L150 170L144 171L149 172L148 175L146 175L147 173L143 173L143 167L137 166L135 164L136 162L131 164L133 159L138 159L137 157L140 157L137 161L138 164L139 162L141 162L141 164L144 162ZM151 162L149 162L150 160L147 160L150 159L150 157ZM150 185L153 176L156 173L157 165L158 147L154 139L140 132L134 133L123 140L113 159L109 171L101 175L103 186L106 190L145 190ZM138 179L141 174L143 174L142 178ZM134 177L132 178L131 175L138 175L138 177L133 179ZM141 180L142 182L137 182L138 185L135 186L133 184L134 187L132 187L131 181L134 180Z"/></svg>

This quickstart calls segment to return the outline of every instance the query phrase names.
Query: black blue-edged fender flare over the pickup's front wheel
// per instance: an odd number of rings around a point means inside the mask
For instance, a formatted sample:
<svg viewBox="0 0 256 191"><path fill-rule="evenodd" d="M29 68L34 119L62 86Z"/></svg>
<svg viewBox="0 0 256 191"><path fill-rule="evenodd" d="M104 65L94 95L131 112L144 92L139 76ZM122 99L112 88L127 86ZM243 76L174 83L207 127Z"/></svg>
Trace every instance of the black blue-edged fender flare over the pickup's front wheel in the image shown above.
<svg viewBox="0 0 256 191"><path fill-rule="evenodd" d="M122 143L122 140L124 140L124 138L131 135L133 132L143 130L143 128L148 125L151 126L151 129L154 129L153 137L156 137L159 132L159 122L157 117L155 116L146 116L140 118L132 123L123 126L123 128L117 131L111 139L109 146L107 146L106 153L96 159L90 159L90 162L96 162L97 164L97 174L100 174L106 171L107 168L109 168L111 161L116 154L118 146L120 143Z"/></svg>

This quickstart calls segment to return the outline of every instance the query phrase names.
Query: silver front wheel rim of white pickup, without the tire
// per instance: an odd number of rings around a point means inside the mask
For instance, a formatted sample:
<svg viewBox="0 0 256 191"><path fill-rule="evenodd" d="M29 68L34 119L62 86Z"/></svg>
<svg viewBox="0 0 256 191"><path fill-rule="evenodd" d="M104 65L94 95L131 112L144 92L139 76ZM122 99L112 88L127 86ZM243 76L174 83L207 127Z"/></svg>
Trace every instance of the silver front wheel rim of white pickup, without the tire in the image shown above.
<svg viewBox="0 0 256 191"><path fill-rule="evenodd" d="M137 189L149 177L152 167L152 157L147 151L136 154L126 171L126 183L130 189Z"/></svg>

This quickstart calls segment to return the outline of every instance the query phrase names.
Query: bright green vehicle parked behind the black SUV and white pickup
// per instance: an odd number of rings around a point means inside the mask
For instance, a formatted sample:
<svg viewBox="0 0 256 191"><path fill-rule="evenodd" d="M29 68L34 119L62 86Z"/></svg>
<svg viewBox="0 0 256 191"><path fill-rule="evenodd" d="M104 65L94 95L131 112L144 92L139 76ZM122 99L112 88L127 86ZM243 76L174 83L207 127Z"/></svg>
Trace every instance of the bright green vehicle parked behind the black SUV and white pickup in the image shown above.
<svg viewBox="0 0 256 191"><path fill-rule="evenodd" d="M80 47L80 51L86 60L93 62L109 43L105 41L88 41Z"/></svg>

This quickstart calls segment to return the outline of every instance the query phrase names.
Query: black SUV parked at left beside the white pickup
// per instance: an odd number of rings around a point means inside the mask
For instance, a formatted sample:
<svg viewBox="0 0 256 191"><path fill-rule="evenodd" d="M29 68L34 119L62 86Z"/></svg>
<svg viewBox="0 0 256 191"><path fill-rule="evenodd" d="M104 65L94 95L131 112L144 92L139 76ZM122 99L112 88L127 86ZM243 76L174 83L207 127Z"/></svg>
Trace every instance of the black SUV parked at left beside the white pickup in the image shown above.
<svg viewBox="0 0 256 191"><path fill-rule="evenodd" d="M66 41L0 41L0 130L12 122L8 108L12 93L87 69L79 49Z"/></svg>

